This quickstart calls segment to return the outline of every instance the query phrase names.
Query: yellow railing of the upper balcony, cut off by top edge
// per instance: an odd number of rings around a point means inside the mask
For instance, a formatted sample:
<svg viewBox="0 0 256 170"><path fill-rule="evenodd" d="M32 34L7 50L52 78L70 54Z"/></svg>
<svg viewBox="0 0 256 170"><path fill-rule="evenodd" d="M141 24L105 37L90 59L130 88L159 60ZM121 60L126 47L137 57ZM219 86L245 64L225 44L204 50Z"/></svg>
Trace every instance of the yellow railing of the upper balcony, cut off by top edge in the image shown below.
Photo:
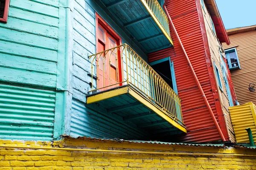
<svg viewBox="0 0 256 170"><path fill-rule="evenodd" d="M157 23L158 27L161 29L166 38L173 45L173 41L170 36L169 20L163 8L157 0L140 0L148 13L151 15L153 20Z"/></svg>

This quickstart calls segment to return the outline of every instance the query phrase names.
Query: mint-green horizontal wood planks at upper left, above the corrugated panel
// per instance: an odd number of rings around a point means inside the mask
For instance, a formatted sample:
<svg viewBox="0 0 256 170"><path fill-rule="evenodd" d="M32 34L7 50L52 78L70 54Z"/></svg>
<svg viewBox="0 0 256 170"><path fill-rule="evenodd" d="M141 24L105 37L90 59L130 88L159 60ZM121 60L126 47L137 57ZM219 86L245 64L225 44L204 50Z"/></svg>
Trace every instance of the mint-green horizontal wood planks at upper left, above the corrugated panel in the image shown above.
<svg viewBox="0 0 256 170"><path fill-rule="evenodd" d="M0 32L0 81L55 88L58 1L11 0Z"/></svg>

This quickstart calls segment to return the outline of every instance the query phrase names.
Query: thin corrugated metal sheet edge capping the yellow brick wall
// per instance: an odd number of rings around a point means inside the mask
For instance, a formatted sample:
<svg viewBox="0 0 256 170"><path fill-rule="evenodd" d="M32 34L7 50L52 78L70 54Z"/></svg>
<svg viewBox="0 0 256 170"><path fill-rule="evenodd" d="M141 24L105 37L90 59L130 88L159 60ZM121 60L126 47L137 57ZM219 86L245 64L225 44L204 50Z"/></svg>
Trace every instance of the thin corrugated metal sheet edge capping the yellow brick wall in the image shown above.
<svg viewBox="0 0 256 170"><path fill-rule="evenodd" d="M244 145L244 144L193 144L193 143L172 143L172 142L160 142L160 141L140 141L140 140L125 140L125 139L101 139L101 138L91 138L91 137L86 137L86 136L79 136L79 137L71 137L68 135L62 135L63 138L70 138L70 139L89 139L89 140L99 140L99 141L112 141L112 142L130 142L130 143L145 143L145 144L161 144L161 145L178 145L178 146L195 146L195 147L200 147L200 146L206 146L206 147L244 147L244 148L250 148L250 149L256 149L255 147Z"/></svg>

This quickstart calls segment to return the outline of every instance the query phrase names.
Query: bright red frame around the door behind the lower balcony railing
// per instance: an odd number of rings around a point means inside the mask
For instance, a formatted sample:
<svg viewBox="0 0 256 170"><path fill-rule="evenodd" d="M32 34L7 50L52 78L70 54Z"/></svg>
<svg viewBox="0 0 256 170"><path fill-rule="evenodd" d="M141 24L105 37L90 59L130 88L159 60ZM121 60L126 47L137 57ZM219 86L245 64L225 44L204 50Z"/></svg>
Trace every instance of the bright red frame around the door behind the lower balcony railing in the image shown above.
<svg viewBox="0 0 256 170"><path fill-rule="evenodd" d="M113 30L113 28L111 28L111 26L108 25L108 23L105 22L105 20L102 19L102 17L99 16L99 14L95 13L95 19L96 19L96 51L98 51L98 41L99 41L99 37L98 37L98 26L100 25L101 27L103 27L105 30L108 31L108 34L110 34L117 42L117 46L121 45L122 43L122 39L121 37L116 33L116 31ZM118 59L118 72L119 72L119 77L118 77L118 81L122 82L122 62L121 62L121 51L119 50L117 53L119 59ZM122 83L120 83L120 85L122 85Z"/></svg>

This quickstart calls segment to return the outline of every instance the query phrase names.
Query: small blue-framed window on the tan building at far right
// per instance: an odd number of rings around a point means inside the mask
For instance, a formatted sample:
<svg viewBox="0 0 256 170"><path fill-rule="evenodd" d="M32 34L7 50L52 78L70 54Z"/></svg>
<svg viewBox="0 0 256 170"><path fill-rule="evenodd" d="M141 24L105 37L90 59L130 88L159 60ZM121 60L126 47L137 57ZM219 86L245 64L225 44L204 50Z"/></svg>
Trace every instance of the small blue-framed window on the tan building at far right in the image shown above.
<svg viewBox="0 0 256 170"><path fill-rule="evenodd" d="M227 65L230 70L241 69L239 59L237 56L236 48L225 50Z"/></svg>

